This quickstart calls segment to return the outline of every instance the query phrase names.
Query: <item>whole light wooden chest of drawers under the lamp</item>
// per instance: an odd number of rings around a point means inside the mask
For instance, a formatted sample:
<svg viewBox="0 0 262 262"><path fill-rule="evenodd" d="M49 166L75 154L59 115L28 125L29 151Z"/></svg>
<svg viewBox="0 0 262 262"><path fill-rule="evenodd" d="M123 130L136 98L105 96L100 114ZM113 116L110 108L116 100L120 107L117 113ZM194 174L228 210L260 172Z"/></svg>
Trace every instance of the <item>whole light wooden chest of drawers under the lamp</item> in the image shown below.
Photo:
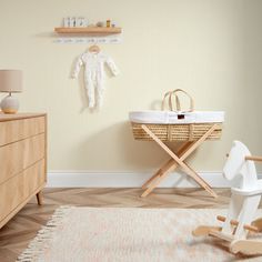
<svg viewBox="0 0 262 262"><path fill-rule="evenodd" d="M0 228L47 182L47 115L0 114Z"/></svg>

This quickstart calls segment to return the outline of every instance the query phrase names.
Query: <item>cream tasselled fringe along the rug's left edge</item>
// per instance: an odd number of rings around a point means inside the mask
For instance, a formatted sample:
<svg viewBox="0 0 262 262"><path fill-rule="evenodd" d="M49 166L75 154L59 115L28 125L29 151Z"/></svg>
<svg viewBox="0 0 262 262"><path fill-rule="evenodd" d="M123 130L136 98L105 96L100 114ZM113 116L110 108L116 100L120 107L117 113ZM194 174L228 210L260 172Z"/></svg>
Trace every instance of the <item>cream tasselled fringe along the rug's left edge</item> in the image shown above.
<svg viewBox="0 0 262 262"><path fill-rule="evenodd" d="M37 236L29 243L28 248L18 256L17 262L39 261L39 256L49 248L49 242L53 239L57 229L62 224L63 218L73 206L61 205L52 214L47 225L39 230Z"/></svg>

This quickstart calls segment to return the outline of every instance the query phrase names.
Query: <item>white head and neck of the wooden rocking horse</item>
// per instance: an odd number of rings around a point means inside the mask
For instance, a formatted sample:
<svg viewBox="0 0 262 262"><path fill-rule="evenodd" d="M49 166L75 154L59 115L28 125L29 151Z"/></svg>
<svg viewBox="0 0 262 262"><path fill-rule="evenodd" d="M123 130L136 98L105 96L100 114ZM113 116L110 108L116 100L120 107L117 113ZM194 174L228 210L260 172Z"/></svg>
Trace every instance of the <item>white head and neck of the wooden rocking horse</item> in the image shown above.
<svg viewBox="0 0 262 262"><path fill-rule="evenodd" d="M251 155L249 149L240 141L234 141L223 168L223 175L226 180L241 178L241 189L253 189L258 182L256 170L253 161L245 160L246 155Z"/></svg>

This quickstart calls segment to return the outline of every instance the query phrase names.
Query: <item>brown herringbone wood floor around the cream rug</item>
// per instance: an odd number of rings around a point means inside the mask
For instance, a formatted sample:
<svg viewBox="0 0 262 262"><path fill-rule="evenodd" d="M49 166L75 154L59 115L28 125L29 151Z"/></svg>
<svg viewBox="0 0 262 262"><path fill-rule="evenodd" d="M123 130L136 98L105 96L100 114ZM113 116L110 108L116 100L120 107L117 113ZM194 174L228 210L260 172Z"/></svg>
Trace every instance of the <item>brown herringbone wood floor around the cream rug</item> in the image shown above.
<svg viewBox="0 0 262 262"><path fill-rule="evenodd" d="M230 191L216 189L218 199L200 189L157 189L141 199L140 189L46 189L44 204L32 199L0 230L0 262L13 262L27 248L41 225L60 205L124 206L124 208L225 208Z"/></svg>

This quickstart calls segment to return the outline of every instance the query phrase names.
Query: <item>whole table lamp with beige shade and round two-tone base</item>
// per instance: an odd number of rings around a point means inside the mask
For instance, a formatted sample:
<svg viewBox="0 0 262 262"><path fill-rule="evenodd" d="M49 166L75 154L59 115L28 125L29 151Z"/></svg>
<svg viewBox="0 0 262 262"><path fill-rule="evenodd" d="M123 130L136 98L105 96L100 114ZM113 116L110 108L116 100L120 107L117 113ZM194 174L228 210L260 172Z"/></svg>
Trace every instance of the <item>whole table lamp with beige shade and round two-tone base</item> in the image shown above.
<svg viewBox="0 0 262 262"><path fill-rule="evenodd" d="M20 70L0 70L0 92L9 93L1 101L3 113L17 113L19 101L12 97L12 93L22 92L22 71Z"/></svg>

